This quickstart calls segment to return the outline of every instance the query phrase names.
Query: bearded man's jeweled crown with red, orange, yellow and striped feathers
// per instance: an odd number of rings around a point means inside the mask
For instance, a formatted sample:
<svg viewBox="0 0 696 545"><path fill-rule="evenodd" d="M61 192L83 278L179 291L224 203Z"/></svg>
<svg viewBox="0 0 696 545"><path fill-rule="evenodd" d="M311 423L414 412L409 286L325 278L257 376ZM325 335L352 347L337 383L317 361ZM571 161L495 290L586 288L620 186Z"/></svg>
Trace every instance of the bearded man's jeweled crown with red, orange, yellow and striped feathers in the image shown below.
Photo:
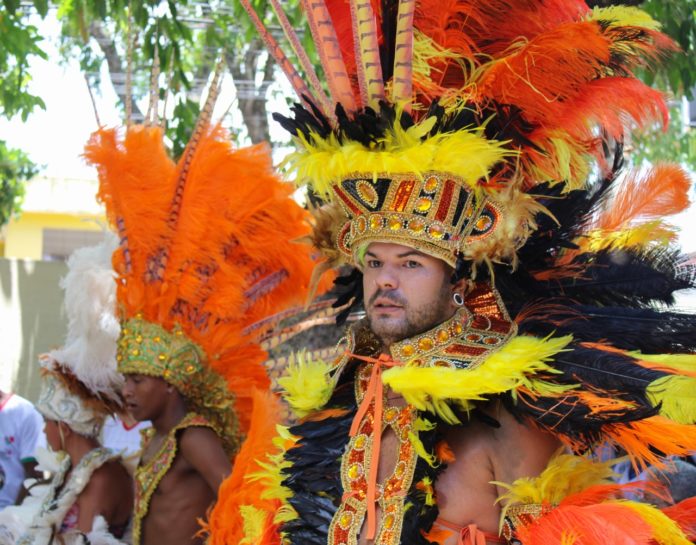
<svg viewBox="0 0 696 545"><path fill-rule="evenodd" d="M277 119L298 183L332 208L315 240L333 264L359 263L371 241L514 261L536 227L535 186L581 187L603 136L666 116L632 70L672 45L635 8L303 0L327 97L279 3L307 78L243 4L304 101Z"/></svg>

